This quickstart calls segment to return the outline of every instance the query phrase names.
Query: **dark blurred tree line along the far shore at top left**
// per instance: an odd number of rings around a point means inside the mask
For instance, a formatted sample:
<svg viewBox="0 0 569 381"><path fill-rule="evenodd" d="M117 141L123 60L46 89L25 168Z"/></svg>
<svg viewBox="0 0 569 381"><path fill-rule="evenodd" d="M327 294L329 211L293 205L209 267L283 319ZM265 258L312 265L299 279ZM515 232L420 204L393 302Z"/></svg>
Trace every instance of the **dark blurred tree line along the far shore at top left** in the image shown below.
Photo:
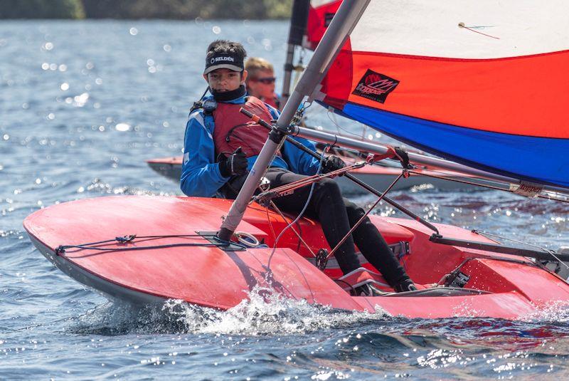
<svg viewBox="0 0 569 381"><path fill-rule="evenodd" d="M0 0L0 19L283 19L292 0Z"/></svg>

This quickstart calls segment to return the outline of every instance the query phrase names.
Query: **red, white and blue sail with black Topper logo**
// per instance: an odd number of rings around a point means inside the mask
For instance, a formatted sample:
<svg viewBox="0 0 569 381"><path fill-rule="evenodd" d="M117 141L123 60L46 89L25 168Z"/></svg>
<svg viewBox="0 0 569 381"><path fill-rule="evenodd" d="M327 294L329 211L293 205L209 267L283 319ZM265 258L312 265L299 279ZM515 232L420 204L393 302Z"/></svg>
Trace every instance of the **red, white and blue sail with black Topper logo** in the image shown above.
<svg viewBox="0 0 569 381"><path fill-rule="evenodd" d="M307 36L340 3L312 1ZM567 14L565 0L371 1L317 99L445 159L569 187Z"/></svg>

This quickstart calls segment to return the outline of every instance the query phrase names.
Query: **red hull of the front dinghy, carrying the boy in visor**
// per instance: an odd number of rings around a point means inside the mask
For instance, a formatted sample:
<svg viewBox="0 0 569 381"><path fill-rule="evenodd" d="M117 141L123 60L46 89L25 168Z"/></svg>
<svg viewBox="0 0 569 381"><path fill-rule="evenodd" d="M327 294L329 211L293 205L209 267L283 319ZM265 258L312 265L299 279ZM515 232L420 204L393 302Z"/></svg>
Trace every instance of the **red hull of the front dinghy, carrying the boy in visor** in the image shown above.
<svg viewBox="0 0 569 381"><path fill-rule="evenodd" d="M322 272L307 259L309 249L292 231L273 250L275 233L287 224L275 212L252 204L239 231L264 241L268 248L224 251L211 246L150 246L210 244L196 231L216 231L230 202L193 197L102 197L54 205L31 214L24 227L42 253L62 271L81 283L102 291L110 298L134 303L152 303L175 298L200 306L228 309L248 298L250 291L264 289L287 298L332 308L368 310L376 308L409 318L488 316L521 318L551 303L569 301L569 285L534 263L505 254L465 250L433 244L430 231L416 221L373 216L372 221L388 243L405 241L410 254L403 256L410 276L418 283L436 283L459 268L469 276L461 292L441 295L445 289L426 289L411 294L352 297L335 278L339 269ZM437 225L445 236L489 241L470 231ZM304 241L312 251L326 248L316 221L299 222ZM131 243L112 243L112 251L67 249L55 254L60 245L80 245L137 234ZM176 235L194 235L180 237ZM95 247L109 247L108 244ZM122 251L123 248L139 248ZM115 250L116 249L116 250ZM373 268L366 265L368 268ZM373 276L382 281L381 276ZM383 281L385 283L385 281ZM447 294L448 295L448 294Z"/></svg>

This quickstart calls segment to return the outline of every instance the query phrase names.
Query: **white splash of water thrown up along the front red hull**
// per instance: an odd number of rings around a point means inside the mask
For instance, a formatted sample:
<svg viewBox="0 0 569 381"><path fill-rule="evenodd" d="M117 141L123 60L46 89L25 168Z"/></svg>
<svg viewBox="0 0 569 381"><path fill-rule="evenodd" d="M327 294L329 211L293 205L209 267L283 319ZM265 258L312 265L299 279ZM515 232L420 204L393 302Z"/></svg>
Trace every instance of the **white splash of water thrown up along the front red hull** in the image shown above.
<svg viewBox="0 0 569 381"><path fill-rule="evenodd" d="M137 308L107 303L90 310L78 320L75 333L123 335L126 333L192 333L223 335L293 335L329 328L349 327L360 322L385 319L375 313L334 310L255 287L238 306L216 310L179 300L162 306Z"/></svg>

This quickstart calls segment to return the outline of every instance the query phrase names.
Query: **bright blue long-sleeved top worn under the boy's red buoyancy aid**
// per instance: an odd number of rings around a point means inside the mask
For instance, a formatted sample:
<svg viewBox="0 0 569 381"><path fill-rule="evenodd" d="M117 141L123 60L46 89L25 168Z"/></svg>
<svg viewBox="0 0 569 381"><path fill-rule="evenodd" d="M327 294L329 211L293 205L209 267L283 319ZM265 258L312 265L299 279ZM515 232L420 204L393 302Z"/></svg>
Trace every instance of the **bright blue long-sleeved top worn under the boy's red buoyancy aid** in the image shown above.
<svg viewBox="0 0 569 381"><path fill-rule="evenodd" d="M229 103L243 104L245 96ZM279 112L267 105L273 118L279 117ZM195 110L189 115L186 123L186 134L184 136L184 160L182 163L182 173L180 187L187 196L213 197L220 187L230 179L223 177L219 172L219 165L216 162L216 150L213 143L213 130L215 129L213 116L204 115L203 110ZM316 152L316 147L309 140L301 137L294 137L294 140L301 142L302 145ZM271 167L289 169L298 174L316 174L319 167L319 160L299 150L289 142L285 142L281 150L282 156L277 156L271 163ZM257 156L248 157L248 169L250 170L257 160Z"/></svg>

